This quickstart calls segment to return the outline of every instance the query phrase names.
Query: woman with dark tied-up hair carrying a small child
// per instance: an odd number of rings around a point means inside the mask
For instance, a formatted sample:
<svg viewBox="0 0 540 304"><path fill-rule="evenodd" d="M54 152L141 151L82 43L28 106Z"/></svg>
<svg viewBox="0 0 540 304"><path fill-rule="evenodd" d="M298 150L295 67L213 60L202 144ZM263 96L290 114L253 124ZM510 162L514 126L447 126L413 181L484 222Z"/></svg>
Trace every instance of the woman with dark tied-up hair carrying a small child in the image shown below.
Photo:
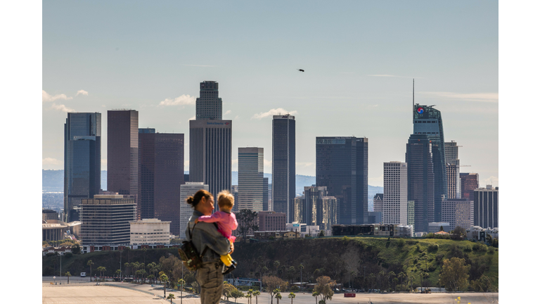
<svg viewBox="0 0 540 304"><path fill-rule="evenodd" d="M191 208L191 215L186 236L189 237L198 253L203 255L203 266L197 270L195 279L200 285L200 303L217 304L223 293L223 274L221 274L221 255L233 253L234 245L217 231L214 223L198 222L195 219L202 215L212 215L214 196L206 190L199 190L186 200Z"/></svg>

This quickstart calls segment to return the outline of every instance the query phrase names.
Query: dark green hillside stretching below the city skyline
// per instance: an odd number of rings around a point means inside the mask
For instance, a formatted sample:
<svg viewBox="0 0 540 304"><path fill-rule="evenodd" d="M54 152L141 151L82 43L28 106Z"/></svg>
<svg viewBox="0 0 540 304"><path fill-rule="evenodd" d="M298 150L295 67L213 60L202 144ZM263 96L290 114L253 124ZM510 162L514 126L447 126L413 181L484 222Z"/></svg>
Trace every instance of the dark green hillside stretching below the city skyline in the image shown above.
<svg viewBox="0 0 540 304"><path fill-rule="evenodd" d="M160 257L178 257L176 249L148 249L143 252L124 251L122 263L159 262ZM321 275L329 276L338 283L347 284L349 273L354 286L388 288L389 274L400 272L412 277L413 286L420 286L420 272L427 272L428 286L437 286L437 279L445 259L464 258L470 265L469 279L479 279L482 274L499 286L499 251L471 241L444 239L385 239L375 237L326 237L321 239L293 239L260 243L236 243L233 258L238 261L234 277L261 277L274 274L288 281L300 281L299 265L302 263L303 281L315 281ZM105 275L112 276L120 265L120 253L96 252L63 258L63 271L72 274L89 272L87 260L94 261L93 272L98 266L107 268ZM275 262L279 265L276 269ZM43 258L43 274L58 274L58 257ZM262 273L266 267L266 272ZM291 268L293 267L293 268ZM364 280L364 272L366 279ZM370 279L370 274L375 277ZM396 285L405 283L399 278ZM386 285L385 285L386 284ZM405 288L404 285L401 286ZM393 287L392 287L393 288Z"/></svg>

